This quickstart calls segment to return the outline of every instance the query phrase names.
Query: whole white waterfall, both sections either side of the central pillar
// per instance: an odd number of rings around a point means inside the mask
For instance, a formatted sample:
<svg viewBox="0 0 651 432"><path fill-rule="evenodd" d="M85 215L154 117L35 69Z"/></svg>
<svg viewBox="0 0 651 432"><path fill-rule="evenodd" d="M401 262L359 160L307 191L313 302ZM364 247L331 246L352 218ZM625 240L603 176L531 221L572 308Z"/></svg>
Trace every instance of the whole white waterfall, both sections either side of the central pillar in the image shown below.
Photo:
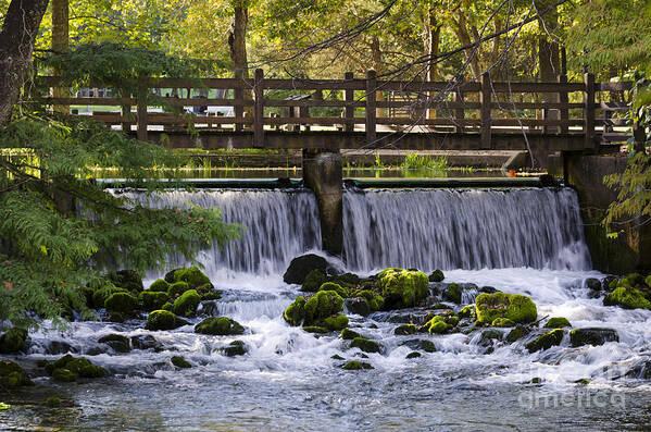
<svg viewBox="0 0 651 432"><path fill-rule="evenodd" d="M129 195L153 207L216 206L225 222L245 225L243 238L202 254L209 274L281 274L292 258L321 247L316 200L308 190ZM569 188L347 190L343 226L352 271L390 266L590 269L578 201ZM184 264L185 258L172 261Z"/></svg>

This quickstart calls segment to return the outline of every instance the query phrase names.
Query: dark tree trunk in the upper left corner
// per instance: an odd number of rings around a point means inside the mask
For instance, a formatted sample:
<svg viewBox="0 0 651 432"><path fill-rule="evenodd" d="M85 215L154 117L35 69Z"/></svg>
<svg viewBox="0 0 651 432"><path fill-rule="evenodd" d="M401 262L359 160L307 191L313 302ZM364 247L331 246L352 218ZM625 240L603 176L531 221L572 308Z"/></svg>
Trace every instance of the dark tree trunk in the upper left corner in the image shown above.
<svg viewBox="0 0 651 432"><path fill-rule="evenodd" d="M48 0L12 0L0 29L0 125L18 101Z"/></svg>

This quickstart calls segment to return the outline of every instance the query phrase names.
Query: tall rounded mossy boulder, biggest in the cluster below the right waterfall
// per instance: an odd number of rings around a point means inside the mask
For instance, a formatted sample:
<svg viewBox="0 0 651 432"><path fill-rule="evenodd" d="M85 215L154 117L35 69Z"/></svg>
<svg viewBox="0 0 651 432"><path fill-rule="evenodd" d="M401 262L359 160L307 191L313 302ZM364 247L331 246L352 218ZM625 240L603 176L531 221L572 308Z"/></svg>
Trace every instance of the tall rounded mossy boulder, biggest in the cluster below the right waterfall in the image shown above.
<svg viewBox="0 0 651 432"><path fill-rule="evenodd" d="M385 308L401 309L417 306L429 294L427 275L420 271L389 268L378 275Z"/></svg>

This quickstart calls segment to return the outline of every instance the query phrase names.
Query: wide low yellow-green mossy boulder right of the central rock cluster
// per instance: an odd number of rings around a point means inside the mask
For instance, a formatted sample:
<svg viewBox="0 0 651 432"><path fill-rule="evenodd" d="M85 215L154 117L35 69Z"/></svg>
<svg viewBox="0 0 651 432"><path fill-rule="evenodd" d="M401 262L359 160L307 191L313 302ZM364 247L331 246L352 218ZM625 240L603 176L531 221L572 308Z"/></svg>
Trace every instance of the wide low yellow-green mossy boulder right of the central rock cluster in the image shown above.
<svg viewBox="0 0 651 432"><path fill-rule="evenodd" d="M479 294L475 300L477 322L491 324L498 318L515 323L529 323L538 318L536 304L521 294Z"/></svg>

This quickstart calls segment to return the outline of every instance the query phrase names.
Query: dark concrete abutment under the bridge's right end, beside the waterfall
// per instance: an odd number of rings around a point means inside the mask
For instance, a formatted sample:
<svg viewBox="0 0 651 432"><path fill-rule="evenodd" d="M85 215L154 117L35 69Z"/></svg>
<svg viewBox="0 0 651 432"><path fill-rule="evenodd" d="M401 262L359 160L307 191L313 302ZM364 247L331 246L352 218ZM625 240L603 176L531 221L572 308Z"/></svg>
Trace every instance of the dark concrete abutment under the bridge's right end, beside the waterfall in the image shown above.
<svg viewBox="0 0 651 432"><path fill-rule="evenodd" d="M603 177L624 172L626 162L624 155L565 152L549 157L550 174L564 175L577 190L592 267L606 273L651 269L651 226L624 225L617 238L608 238L601 225L608 207L617 198L617 192L605 186Z"/></svg>

